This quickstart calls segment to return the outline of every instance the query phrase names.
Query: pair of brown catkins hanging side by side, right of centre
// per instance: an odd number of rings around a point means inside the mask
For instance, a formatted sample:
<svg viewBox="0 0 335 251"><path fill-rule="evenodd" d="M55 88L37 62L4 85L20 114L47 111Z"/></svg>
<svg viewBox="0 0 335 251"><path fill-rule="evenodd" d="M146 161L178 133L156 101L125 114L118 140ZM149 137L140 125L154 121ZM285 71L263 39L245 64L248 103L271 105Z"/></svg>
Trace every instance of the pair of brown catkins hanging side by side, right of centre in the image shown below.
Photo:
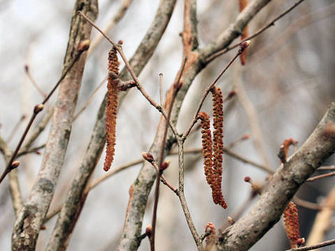
<svg viewBox="0 0 335 251"><path fill-rule="evenodd" d="M202 155L204 157L204 174L207 183L211 186L211 194L215 204L227 208L227 203L222 195L222 162L223 162L223 96L221 89L214 86L211 89L213 96L213 143L211 142L211 129L209 116L199 112L201 121Z"/></svg>

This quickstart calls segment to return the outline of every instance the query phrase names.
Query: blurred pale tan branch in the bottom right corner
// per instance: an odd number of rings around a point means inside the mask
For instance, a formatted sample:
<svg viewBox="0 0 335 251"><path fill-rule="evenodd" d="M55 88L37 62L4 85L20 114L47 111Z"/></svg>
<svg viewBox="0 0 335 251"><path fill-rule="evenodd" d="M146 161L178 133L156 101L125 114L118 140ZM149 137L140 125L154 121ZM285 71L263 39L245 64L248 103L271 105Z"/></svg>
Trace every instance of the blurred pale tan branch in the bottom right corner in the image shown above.
<svg viewBox="0 0 335 251"><path fill-rule="evenodd" d="M325 239L325 234L332 222L332 215L335 210L335 186L329 192L323 204L322 210L315 217L311 233L307 238L307 246L314 245Z"/></svg>

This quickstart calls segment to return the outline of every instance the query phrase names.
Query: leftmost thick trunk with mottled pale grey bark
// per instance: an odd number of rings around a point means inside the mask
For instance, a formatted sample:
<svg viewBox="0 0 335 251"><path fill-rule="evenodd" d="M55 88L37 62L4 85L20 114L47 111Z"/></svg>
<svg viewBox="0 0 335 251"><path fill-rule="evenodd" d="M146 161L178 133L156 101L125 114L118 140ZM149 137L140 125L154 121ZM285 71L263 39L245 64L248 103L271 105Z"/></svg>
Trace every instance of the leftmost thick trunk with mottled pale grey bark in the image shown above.
<svg viewBox="0 0 335 251"><path fill-rule="evenodd" d="M75 2L63 71L77 55L77 45L91 36L91 25L77 15L77 10L81 10L91 20L95 20L98 15L98 2L96 0L77 0ZM82 54L59 86L42 166L29 198L15 222L12 250L34 250L35 248L40 227L50 206L59 172L64 162L86 54L87 52Z"/></svg>

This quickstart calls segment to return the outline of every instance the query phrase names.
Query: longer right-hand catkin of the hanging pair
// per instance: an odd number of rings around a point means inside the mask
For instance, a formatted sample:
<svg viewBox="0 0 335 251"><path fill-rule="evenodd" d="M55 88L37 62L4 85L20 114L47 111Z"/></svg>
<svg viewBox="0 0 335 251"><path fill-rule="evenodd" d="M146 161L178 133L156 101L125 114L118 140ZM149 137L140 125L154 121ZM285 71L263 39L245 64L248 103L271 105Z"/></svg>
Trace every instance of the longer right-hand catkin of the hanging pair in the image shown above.
<svg viewBox="0 0 335 251"><path fill-rule="evenodd" d="M227 208L225 199L222 195L222 162L223 162L223 95L220 88L214 86L211 89L213 96L213 170L214 170L214 195L218 204Z"/></svg>

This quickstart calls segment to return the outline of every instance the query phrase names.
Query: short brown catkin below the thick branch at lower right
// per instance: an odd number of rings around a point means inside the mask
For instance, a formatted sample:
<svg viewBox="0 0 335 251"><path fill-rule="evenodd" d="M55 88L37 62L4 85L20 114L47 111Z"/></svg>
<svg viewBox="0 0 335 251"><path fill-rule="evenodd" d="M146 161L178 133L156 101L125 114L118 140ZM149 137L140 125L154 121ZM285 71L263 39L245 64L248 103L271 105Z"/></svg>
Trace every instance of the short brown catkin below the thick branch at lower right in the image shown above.
<svg viewBox="0 0 335 251"><path fill-rule="evenodd" d="M300 238L299 233L299 218L298 218L298 209L295 204L290 201L288 206L286 206L283 213L285 230L288 238L291 242L291 248L297 247L297 241Z"/></svg>

